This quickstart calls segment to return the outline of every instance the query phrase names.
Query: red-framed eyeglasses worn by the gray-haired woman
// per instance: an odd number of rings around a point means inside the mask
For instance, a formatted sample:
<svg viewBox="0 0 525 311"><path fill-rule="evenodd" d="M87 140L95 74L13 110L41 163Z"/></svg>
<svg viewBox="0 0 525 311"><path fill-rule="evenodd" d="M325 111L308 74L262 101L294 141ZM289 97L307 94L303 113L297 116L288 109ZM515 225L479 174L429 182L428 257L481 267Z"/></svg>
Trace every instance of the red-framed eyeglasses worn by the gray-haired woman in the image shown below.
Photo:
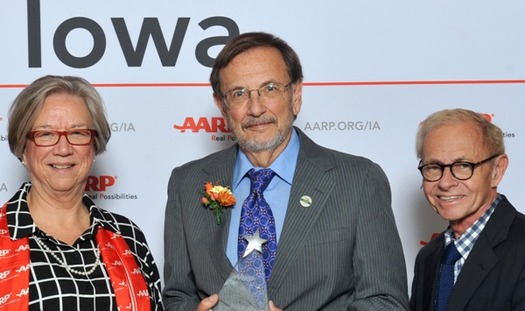
<svg viewBox="0 0 525 311"><path fill-rule="evenodd" d="M54 146L61 136L65 136L68 143L74 146L89 145L97 131L91 129L74 129L69 131L31 131L27 138L33 140L39 147Z"/></svg>

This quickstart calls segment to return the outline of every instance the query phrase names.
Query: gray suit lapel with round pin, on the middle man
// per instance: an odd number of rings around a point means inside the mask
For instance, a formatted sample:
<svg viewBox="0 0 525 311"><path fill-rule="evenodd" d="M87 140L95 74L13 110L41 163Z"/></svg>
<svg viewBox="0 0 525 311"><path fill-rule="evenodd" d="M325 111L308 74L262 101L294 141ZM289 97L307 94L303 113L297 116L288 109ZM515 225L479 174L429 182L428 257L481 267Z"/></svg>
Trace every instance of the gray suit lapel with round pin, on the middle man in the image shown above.
<svg viewBox="0 0 525 311"><path fill-rule="evenodd" d="M324 157L319 146L298 130L301 150L297 159L292 189L281 237L279 238L277 258L269 282L268 292L279 291L282 282L289 276L287 271L296 262L301 249L308 243L305 236L311 231L319 215L326 206L335 182L327 171L333 168L330 159ZM302 196L309 196L312 204L303 207Z"/></svg>

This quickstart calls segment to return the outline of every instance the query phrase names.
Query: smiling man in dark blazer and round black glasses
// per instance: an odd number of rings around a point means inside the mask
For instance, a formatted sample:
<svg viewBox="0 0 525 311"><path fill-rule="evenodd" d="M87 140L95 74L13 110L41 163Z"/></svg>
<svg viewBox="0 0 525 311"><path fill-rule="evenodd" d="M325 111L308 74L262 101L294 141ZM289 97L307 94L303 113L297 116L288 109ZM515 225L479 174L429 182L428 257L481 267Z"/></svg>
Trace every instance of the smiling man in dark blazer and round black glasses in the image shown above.
<svg viewBox="0 0 525 311"><path fill-rule="evenodd" d="M416 149L423 192L450 225L416 258L410 309L525 310L525 215L497 190L509 163L501 129L442 110L420 123Z"/></svg>

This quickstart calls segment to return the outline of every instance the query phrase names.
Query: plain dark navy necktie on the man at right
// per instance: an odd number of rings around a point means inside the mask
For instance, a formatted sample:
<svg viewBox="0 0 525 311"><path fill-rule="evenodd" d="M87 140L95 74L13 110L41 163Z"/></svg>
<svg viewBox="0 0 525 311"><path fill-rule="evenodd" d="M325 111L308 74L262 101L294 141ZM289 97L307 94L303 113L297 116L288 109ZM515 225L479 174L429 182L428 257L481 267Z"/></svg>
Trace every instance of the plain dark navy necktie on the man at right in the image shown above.
<svg viewBox="0 0 525 311"><path fill-rule="evenodd" d="M436 300L436 310L445 310L454 287L454 264L461 258L454 242L447 245L441 261L441 272L439 275L439 287Z"/></svg>

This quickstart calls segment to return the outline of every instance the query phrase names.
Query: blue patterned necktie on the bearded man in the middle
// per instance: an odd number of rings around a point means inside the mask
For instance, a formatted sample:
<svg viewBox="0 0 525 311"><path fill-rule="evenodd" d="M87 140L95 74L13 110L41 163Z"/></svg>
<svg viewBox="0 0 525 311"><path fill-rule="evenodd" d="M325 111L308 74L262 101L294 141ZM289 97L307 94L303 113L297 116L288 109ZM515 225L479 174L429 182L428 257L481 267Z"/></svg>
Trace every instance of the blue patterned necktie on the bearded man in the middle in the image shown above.
<svg viewBox="0 0 525 311"><path fill-rule="evenodd" d="M239 259L244 256L248 244L244 237L253 235L255 231L259 229L261 238L267 240L262 248L264 270L261 270L260 267L254 268L256 271L264 271L265 280L268 282L272 273L275 255L277 254L277 234L275 230L275 219L270 206L264 199L263 192L270 184L270 181L272 181L275 172L269 168L258 171L252 168L248 171L248 176L250 177L251 190L250 195L242 205L239 224L238 255ZM247 256L248 261L250 260L250 256L255 255L253 253L254 252ZM254 262L254 264L257 263Z"/></svg>

